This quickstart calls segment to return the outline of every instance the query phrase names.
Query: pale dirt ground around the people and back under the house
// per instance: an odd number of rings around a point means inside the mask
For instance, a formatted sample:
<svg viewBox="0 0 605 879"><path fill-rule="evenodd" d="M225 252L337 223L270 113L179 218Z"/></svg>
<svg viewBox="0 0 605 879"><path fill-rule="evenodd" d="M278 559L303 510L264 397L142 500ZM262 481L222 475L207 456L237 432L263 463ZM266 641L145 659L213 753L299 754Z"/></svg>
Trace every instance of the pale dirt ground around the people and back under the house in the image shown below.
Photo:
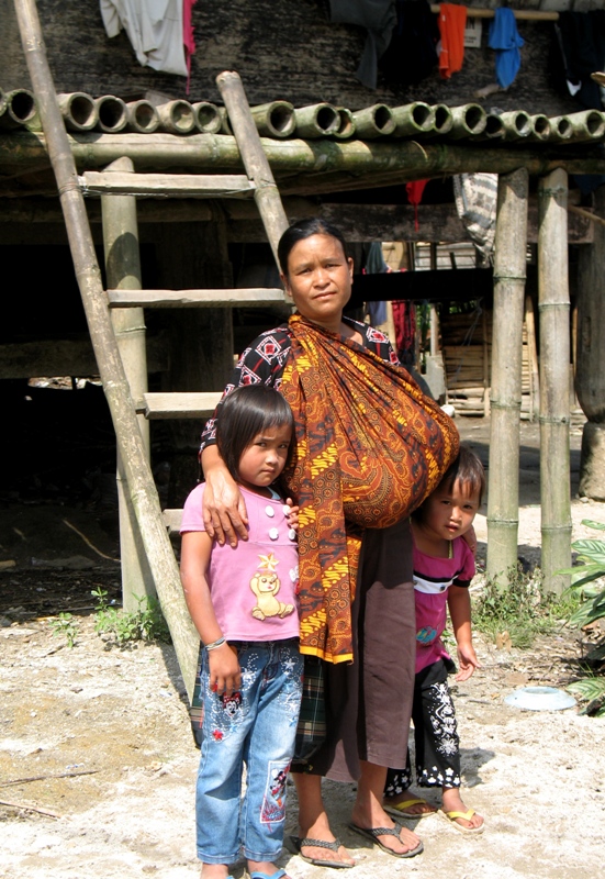
<svg viewBox="0 0 605 879"><path fill-rule="evenodd" d="M488 460L489 421L458 419ZM539 560L538 426L522 430L519 555ZM572 430L572 497L581 424ZM482 511L484 512L484 511ZM582 519L605 504L572 501ZM66 524L66 522L68 524ZM187 879L199 874L193 827L198 752L171 647L108 649L94 633L90 590L119 599L114 522L91 511L16 503L0 510L0 877ZM485 520L479 515L480 555ZM102 554L102 555L100 555ZM55 565L55 567L53 567ZM56 567L58 565L58 567ZM76 645L53 634L61 611ZM504 697L526 683L564 687L578 633L561 628L529 650L478 641L479 674L455 688L466 800L486 831L467 837L437 815L412 822L425 852L397 860L347 827L355 787L325 782L333 826L358 858L350 876L432 879L596 879L605 850L605 719L520 711ZM434 800L434 802L436 802ZM290 787L287 833L295 832ZM293 879L334 877L284 850ZM236 879L244 875L239 865ZM347 874L349 875L349 874Z"/></svg>

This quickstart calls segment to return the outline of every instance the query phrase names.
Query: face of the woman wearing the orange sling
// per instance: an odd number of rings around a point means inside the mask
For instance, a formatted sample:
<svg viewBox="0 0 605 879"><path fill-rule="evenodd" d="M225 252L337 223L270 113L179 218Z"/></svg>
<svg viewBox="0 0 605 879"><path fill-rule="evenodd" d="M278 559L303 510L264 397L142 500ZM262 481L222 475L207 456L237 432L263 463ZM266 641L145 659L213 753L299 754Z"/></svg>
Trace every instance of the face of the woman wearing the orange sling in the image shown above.
<svg viewBox="0 0 605 879"><path fill-rule="evenodd" d="M311 235L290 251L282 281L303 318L333 329L350 299L352 259L332 235Z"/></svg>

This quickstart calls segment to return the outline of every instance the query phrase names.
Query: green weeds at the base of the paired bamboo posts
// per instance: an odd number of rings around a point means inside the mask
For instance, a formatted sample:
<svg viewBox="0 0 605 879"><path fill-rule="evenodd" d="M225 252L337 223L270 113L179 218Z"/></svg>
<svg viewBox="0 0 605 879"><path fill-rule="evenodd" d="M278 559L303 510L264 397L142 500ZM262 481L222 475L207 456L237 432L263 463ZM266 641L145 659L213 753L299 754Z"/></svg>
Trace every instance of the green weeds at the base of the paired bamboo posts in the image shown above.
<svg viewBox="0 0 605 879"><path fill-rule="evenodd" d="M530 647L538 635L549 634L569 616L573 598L561 600L545 592L539 568L525 572L520 565L507 572L507 583L485 578L478 594L473 593L473 626L497 641L508 633L514 647Z"/></svg>

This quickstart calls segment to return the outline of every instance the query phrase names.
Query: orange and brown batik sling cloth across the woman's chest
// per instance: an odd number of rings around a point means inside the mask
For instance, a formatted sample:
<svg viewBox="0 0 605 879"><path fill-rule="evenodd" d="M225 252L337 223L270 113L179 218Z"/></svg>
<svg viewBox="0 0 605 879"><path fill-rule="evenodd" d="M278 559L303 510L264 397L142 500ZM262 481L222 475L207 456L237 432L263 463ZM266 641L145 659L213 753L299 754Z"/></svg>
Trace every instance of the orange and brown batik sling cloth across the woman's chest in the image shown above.
<svg viewBox="0 0 605 879"><path fill-rule="evenodd" d="M458 454L458 431L407 371L300 314L281 393L296 425L284 472L300 504L301 652L352 660L365 528L405 519Z"/></svg>

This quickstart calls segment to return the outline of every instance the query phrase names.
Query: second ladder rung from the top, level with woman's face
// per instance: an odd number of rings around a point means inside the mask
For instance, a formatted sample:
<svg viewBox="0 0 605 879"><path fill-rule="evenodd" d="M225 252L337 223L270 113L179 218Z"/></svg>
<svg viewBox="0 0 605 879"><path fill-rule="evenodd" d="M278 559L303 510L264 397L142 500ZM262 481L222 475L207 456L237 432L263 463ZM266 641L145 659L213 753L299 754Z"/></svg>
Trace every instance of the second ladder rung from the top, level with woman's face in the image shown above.
<svg viewBox="0 0 605 879"><path fill-rule="evenodd" d="M183 309L275 305L287 302L279 287L248 287L229 290L108 290L113 309Z"/></svg>

